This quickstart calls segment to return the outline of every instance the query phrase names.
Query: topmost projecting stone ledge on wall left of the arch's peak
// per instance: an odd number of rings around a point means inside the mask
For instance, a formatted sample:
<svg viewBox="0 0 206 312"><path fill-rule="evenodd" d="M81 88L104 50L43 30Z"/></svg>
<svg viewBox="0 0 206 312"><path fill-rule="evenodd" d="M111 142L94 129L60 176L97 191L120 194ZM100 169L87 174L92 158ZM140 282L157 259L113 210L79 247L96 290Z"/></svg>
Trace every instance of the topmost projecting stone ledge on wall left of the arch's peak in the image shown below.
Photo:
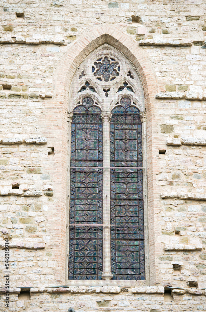
<svg viewBox="0 0 206 312"><path fill-rule="evenodd" d="M42 43L52 43L65 46L65 40L62 37L52 37L52 36L45 36L42 37L41 35L33 35L31 38L25 38L22 36L17 35L5 35L0 37L0 43L18 43L18 44L42 44Z"/></svg>

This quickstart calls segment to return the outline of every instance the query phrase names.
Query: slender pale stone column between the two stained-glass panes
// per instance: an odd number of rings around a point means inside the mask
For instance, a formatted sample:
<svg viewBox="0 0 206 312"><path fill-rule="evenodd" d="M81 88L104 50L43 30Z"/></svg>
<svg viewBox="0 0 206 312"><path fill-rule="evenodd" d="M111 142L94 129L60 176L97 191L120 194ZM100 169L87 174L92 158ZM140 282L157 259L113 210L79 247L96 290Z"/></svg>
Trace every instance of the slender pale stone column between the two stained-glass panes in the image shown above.
<svg viewBox="0 0 206 312"><path fill-rule="evenodd" d="M110 256L110 113L101 114L103 123L103 272L102 279L111 279ZM108 169L106 169L108 168Z"/></svg>

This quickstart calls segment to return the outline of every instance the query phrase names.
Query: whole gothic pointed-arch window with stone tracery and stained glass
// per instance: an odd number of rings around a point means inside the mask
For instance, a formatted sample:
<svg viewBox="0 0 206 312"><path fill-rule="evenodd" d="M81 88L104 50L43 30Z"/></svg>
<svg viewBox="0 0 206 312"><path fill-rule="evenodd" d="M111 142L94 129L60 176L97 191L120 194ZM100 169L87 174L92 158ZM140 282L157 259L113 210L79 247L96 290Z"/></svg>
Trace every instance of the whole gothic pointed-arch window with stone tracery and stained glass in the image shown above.
<svg viewBox="0 0 206 312"><path fill-rule="evenodd" d="M144 92L131 62L108 45L92 52L72 80L69 112L67 282L145 285Z"/></svg>

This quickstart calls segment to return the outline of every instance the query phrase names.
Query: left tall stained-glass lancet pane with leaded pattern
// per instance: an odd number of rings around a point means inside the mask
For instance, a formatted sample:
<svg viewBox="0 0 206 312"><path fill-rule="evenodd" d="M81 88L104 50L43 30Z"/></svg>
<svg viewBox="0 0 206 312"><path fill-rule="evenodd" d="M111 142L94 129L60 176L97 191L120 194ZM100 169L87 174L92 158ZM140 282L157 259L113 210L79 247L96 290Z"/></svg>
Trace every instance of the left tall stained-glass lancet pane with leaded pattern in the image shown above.
<svg viewBox="0 0 206 312"><path fill-rule="evenodd" d="M69 234L69 280L101 280L103 229L91 226L103 222L100 113L91 98L84 98L71 124L71 167L80 168L71 168L70 225L74 226ZM81 224L84 226L75 226Z"/></svg>

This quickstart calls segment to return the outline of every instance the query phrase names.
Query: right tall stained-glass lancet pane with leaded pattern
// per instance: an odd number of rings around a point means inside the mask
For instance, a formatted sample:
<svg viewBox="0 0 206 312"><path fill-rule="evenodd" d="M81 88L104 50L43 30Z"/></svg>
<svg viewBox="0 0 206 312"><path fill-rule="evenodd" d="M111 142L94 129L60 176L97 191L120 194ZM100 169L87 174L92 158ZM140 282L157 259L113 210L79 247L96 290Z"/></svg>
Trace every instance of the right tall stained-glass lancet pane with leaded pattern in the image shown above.
<svg viewBox="0 0 206 312"><path fill-rule="evenodd" d="M115 280L145 280L143 173L132 168L142 167L142 126L130 99L120 104L110 122L110 166L131 169L110 170L111 224L122 225L111 226L111 271Z"/></svg>

